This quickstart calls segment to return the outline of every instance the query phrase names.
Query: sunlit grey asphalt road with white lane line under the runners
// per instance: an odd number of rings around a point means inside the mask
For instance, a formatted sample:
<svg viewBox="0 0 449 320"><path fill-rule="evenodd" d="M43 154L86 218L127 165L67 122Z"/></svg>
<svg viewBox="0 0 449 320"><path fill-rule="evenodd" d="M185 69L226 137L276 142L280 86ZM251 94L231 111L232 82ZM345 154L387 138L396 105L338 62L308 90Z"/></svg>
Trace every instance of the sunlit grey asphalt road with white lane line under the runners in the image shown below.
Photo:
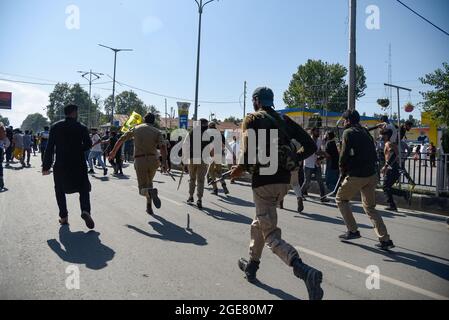
<svg viewBox="0 0 449 320"><path fill-rule="evenodd" d="M40 174L38 157L31 168L5 170L0 299L307 299L302 281L268 249L260 282L243 279L237 259L248 254L254 215L248 184L231 185L229 197L206 192L199 211L185 204L187 179L177 192L177 183L157 174L163 207L153 218L137 193L132 165L124 179L100 171L90 179L96 229L89 232L76 195L68 196L70 227L59 226L52 177ZM286 198L279 226L302 259L323 271L325 299L449 298L445 217L382 212L397 245L384 253L374 248L376 236L360 204L354 210L363 238L347 244L337 239L345 226L335 204L308 201L299 215L295 202L293 195ZM79 289L66 286L73 266ZM380 272L377 288L367 288L369 266Z"/></svg>

